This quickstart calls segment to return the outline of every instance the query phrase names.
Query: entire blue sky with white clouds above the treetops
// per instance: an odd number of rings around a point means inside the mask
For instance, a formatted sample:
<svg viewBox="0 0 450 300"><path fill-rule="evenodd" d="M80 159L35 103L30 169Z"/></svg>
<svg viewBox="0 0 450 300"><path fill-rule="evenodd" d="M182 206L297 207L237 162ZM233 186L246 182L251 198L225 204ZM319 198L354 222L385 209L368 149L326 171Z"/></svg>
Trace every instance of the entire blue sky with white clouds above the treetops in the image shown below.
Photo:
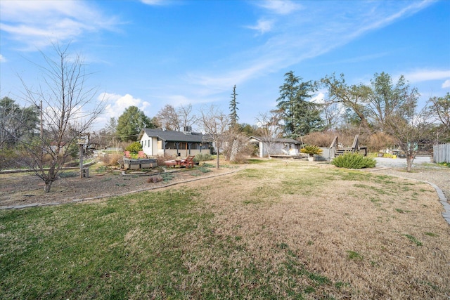
<svg viewBox="0 0 450 300"><path fill-rule="evenodd" d="M70 41L95 72L107 104L97 129L129 105L148 117L166 104L228 114L235 84L239 122L255 124L290 70L349 84L403 74L421 101L450 92L450 1L1 0L0 97L20 99L19 77L37 86L30 61L52 41Z"/></svg>

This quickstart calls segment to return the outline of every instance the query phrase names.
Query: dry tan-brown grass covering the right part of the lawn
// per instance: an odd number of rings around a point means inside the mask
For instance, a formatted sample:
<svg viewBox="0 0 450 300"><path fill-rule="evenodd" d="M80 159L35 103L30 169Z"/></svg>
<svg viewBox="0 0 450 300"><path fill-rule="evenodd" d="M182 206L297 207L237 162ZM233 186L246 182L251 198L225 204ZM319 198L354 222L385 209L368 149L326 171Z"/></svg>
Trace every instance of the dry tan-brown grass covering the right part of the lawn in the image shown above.
<svg viewBox="0 0 450 300"><path fill-rule="evenodd" d="M212 268L276 268L285 260L278 250L286 248L307 270L338 282L339 288L317 287L316 295L450 295L450 226L430 185L297 161L249 165L226 179L188 184L194 185L214 212L214 233L243 245L231 257L205 249L203 263Z"/></svg>

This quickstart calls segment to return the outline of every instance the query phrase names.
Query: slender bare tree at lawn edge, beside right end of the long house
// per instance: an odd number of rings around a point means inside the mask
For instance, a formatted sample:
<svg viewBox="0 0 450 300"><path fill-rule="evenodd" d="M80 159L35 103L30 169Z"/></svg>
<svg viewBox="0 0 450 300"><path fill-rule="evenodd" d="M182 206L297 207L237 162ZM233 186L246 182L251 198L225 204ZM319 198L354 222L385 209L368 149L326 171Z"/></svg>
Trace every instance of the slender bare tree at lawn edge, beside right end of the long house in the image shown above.
<svg viewBox="0 0 450 300"><path fill-rule="evenodd" d="M225 139L226 130L229 127L229 116L217 110L217 107L211 105L207 110L200 110L200 126L203 127L205 135L208 136L217 148L217 169L220 163L221 143Z"/></svg>

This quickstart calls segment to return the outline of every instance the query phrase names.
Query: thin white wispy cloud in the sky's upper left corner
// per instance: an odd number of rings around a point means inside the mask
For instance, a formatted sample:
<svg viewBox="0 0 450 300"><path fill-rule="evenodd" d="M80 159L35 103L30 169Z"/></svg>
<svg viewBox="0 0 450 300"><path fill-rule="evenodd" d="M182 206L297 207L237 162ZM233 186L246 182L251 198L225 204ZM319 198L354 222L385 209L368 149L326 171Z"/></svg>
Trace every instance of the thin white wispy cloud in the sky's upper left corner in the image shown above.
<svg viewBox="0 0 450 300"><path fill-rule="evenodd" d="M4 37L28 50L117 25L86 1L0 1L0 10Z"/></svg>

